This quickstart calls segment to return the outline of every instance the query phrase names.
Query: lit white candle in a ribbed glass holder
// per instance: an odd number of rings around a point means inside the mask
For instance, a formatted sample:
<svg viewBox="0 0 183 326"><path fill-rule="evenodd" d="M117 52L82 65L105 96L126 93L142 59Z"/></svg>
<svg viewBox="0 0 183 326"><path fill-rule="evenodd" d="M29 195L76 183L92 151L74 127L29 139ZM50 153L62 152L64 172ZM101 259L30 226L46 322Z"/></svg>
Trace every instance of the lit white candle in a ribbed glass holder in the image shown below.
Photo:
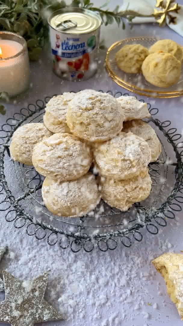
<svg viewBox="0 0 183 326"><path fill-rule="evenodd" d="M18 34L0 32L0 92L15 96L28 88L30 77L26 40Z"/></svg>

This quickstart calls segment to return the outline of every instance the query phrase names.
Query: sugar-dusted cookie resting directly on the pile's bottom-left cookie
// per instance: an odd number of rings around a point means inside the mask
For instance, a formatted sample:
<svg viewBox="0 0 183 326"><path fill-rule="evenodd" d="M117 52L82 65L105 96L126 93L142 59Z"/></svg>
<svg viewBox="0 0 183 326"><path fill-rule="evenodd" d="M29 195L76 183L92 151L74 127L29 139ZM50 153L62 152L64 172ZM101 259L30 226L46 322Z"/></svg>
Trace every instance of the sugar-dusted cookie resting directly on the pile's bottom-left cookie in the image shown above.
<svg viewBox="0 0 183 326"><path fill-rule="evenodd" d="M57 133L34 147L32 160L42 175L67 181L80 178L89 170L92 154L76 136Z"/></svg>

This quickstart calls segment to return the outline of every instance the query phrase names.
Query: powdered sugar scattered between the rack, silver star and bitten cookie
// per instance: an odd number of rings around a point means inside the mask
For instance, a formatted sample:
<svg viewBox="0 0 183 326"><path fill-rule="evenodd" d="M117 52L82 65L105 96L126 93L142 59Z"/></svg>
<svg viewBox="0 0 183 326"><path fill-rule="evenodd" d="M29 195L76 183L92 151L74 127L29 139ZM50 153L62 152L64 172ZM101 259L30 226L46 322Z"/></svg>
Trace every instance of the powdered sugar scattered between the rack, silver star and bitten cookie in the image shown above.
<svg viewBox="0 0 183 326"><path fill-rule="evenodd" d="M70 249L50 247L22 232L20 243L17 232L12 233L14 248L9 248L17 252L13 259L3 259L8 262L4 267L22 280L51 269L46 300L66 319L55 322L54 326L140 326L146 319L149 326L154 325L154 319L159 326L161 312L169 314L170 305L164 306L170 300L163 278L151 264L153 258L169 251L170 245L173 250L166 233L151 236L143 232L143 241L134 241L131 248L125 248L118 239L115 251L103 253L95 248L89 254L83 251L73 254ZM36 269L32 269L33 264ZM26 288L27 282L23 284ZM176 316L176 308L171 307Z"/></svg>

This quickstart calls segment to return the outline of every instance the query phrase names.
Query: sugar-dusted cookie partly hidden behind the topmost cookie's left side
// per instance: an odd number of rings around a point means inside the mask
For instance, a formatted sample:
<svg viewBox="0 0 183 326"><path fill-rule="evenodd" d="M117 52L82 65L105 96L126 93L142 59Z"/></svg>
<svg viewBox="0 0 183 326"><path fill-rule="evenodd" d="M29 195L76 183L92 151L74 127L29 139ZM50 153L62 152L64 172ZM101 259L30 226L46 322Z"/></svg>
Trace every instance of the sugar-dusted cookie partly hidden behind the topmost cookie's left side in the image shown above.
<svg viewBox="0 0 183 326"><path fill-rule="evenodd" d="M53 96L46 104L46 113L43 117L44 125L54 134L70 132L66 123L66 113L73 96L74 93L63 93L63 95Z"/></svg>

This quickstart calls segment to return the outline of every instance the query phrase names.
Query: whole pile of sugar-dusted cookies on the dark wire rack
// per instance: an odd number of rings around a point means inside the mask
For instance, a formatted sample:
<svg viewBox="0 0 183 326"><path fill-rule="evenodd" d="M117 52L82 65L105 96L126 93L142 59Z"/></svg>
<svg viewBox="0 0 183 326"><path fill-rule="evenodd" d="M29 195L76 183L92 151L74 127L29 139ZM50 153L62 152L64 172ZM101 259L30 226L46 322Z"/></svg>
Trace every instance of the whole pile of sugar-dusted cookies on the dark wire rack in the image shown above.
<svg viewBox="0 0 183 326"><path fill-rule="evenodd" d="M42 197L49 211L82 216L101 198L126 211L149 196L148 164L157 160L161 145L141 120L150 117L146 103L84 90L54 96L45 111L44 125L14 132L10 153L46 177ZM98 178L88 172L94 165Z"/></svg>

